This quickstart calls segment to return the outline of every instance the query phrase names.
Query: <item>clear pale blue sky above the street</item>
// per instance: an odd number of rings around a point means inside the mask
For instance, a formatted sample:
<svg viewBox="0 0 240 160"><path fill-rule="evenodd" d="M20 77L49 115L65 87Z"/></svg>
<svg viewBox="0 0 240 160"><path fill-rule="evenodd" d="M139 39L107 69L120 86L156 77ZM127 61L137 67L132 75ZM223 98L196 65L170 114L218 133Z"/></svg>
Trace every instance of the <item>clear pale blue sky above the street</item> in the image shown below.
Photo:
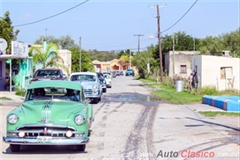
<svg viewBox="0 0 240 160"><path fill-rule="evenodd" d="M27 44L40 36L70 36L84 50L137 51L139 45L142 51L158 43L157 5L161 36L180 31L206 38L239 28L239 1L0 0L0 17L9 11L20 30L17 41Z"/></svg>

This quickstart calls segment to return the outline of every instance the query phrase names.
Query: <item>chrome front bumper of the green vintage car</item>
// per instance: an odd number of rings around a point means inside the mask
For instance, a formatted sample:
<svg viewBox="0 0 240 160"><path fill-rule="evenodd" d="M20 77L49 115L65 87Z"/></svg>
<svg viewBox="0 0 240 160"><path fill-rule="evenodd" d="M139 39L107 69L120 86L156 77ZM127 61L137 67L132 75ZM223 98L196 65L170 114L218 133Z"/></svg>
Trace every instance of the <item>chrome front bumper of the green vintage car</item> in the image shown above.
<svg viewBox="0 0 240 160"><path fill-rule="evenodd" d="M79 145L89 142L89 138L55 138L51 140L39 141L36 138L18 138L18 137L3 137L3 141L9 144L20 145Z"/></svg>

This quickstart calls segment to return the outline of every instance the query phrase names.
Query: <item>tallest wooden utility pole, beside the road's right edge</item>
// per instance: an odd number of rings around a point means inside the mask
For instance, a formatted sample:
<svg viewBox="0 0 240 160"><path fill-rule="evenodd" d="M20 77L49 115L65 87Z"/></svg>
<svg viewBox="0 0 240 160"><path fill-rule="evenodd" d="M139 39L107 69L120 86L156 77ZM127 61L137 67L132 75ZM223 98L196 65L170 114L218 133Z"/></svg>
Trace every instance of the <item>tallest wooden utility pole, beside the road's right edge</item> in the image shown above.
<svg viewBox="0 0 240 160"><path fill-rule="evenodd" d="M160 81L163 82L163 66L162 66L162 47L161 47L161 31L160 31L160 13L159 6L157 5L157 24L158 24L158 47L160 58Z"/></svg>

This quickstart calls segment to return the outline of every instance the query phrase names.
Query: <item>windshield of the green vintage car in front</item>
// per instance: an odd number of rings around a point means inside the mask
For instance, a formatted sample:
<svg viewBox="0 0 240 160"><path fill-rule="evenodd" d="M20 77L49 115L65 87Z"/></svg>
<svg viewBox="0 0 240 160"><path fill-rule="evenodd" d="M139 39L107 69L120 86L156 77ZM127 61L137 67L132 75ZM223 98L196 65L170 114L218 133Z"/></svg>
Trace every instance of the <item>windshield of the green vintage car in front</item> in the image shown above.
<svg viewBox="0 0 240 160"><path fill-rule="evenodd" d="M58 87L34 88L27 90L25 101L33 100L64 100L64 101L82 101L83 97L79 90Z"/></svg>

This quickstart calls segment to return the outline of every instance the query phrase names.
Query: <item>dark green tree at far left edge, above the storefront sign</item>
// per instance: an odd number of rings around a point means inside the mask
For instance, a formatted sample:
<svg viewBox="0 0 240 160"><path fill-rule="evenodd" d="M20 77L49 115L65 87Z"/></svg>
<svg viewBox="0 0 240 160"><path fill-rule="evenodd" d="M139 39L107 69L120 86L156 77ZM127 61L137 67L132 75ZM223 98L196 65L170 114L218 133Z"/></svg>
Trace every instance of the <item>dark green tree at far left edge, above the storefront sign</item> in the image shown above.
<svg viewBox="0 0 240 160"><path fill-rule="evenodd" d="M12 26L12 21L9 16L10 13L6 12L3 17L0 18L0 38L5 39L8 43L6 54L11 53L11 41L15 41L20 32L19 30L14 32L14 27Z"/></svg>

